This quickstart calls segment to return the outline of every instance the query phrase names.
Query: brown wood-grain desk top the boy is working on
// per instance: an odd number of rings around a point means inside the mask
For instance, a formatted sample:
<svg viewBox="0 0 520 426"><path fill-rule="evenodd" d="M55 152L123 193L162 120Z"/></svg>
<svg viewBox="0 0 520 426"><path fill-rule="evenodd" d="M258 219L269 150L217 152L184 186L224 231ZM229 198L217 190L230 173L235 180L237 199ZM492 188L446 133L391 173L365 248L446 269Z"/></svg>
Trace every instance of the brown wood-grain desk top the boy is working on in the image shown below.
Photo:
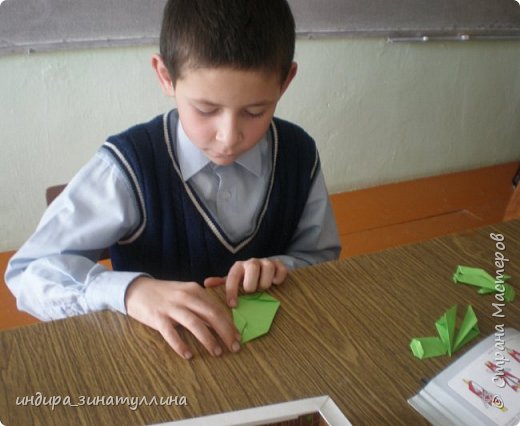
<svg viewBox="0 0 520 426"><path fill-rule="evenodd" d="M506 272L518 291L520 221L513 221L294 272L272 291L282 305L271 333L221 358L188 337L196 357L184 361L158 333L110 312L1 332L0 420L147 424L327 394L355 425L425 424L406 400L452 359L417 360L410 338L434 335L434 321L456 303L459 311L473 304L482 337L498 321L520 325L519 298L505 318L494 318L493 296L451 281L458 264L495 274L490 232L505 236ZM183 395L188 405L16 405L37 392L72 402Z"/></svg>

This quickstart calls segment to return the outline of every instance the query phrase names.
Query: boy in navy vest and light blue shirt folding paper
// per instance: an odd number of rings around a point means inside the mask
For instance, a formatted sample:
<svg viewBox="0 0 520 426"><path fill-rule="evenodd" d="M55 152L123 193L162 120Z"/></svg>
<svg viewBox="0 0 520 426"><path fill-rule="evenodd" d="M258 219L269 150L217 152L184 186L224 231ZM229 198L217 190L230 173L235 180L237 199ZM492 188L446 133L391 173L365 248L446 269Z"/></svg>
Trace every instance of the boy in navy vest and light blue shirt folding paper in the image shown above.
<svg viewBox="0 0 520 426"><path fill-rule="evenodd" d="M177 109L109 138L48 208L6 272L19 309L118 310L186 359L177 325L219 356L216 337L236 352L240 334L201 284L233 307L240 287L337 258L314 141L273 119L294 37L285 0L168 1L152 66Z"/></svg>

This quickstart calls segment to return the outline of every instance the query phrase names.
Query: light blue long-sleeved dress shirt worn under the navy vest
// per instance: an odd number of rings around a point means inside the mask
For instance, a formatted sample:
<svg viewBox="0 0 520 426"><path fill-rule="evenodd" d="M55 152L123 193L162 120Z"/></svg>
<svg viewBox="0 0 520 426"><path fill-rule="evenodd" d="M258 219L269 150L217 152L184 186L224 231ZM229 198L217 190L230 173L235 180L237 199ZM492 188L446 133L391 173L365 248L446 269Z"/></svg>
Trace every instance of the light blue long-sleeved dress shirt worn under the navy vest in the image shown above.
<svg viewBox="0 0 520 426"><path fill-rule="evenodd" d="M217 166L180 125L176 150L183 179L231 239L254 226L272 168L266 135L229 166ZM5 280L20 310L42 320L111 309L126 313L128 285L143 273L112 271L97 263L105 247L138 226L139 208L126 175L105 150L69 182L45 211L36 231L13 256ZM340 242L321 170L287 253L276 259L298 268L338 258Z"/></svg>

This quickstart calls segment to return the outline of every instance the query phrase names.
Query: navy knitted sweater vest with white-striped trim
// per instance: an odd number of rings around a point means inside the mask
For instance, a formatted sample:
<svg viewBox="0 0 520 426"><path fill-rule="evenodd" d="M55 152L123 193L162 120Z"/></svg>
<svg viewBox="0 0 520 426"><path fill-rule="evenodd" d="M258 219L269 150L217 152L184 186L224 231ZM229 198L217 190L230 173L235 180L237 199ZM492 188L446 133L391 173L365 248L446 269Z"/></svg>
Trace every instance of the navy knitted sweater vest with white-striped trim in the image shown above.
<svg viewBox="0 0 520 426"><path fill-rule="evenodd" d="M169 128L169 114L174 128ZM115 270L157 279L197 281L225 276L237 260L284 254L307 202L319 159L312 138L280 119L271 124L273 172L253 233L230 241L181 178L172 138L177 111L159 116L103 145L133 186L141 224L110 248Z"/></svg>

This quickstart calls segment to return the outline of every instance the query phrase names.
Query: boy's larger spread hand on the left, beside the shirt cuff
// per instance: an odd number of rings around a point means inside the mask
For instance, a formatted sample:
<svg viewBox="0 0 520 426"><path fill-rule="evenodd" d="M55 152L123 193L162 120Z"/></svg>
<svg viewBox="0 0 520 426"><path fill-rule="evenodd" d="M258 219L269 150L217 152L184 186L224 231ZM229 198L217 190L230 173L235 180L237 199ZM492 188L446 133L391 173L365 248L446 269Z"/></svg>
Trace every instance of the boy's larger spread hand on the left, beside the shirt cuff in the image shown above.
<svg viewBox="0 0 520 426"><path fill-rule="evenodd" d="M222 354L222 347L210 328L231 352L240 350L240 333L231 315L197 283L139 277L128 287L125 304L129 316L161 333L185 359L193 354L177 332L177 325L189 330L214 356Z"/></svg>

